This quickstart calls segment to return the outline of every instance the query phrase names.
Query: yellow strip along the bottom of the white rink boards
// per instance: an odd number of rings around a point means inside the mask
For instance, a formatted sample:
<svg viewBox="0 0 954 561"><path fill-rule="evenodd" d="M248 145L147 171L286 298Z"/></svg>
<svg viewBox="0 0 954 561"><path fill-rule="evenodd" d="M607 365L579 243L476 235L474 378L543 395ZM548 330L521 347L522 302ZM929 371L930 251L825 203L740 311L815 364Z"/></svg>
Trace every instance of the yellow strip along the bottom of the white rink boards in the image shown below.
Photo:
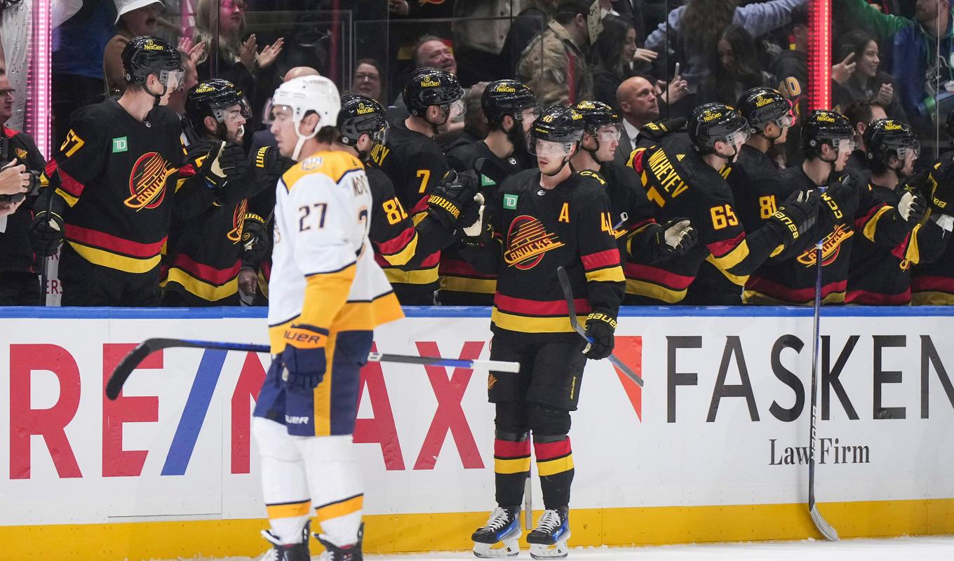
<svg viewBox="0 0 954 561"><path fill-rule="evenodd" d="M820 509L842 538L954 533L954 499L824 503ZM821 538L804 503L573 509L570 519L573 547ZM473 546L470 532L487 522L487 512L374 514L363 521L365 552L464 551ZM263 519L4 526L0 540L11 559L259 556L268 549L259 536L266 528ZM315 540L311 547L312 554L321 551Z"/></svg>

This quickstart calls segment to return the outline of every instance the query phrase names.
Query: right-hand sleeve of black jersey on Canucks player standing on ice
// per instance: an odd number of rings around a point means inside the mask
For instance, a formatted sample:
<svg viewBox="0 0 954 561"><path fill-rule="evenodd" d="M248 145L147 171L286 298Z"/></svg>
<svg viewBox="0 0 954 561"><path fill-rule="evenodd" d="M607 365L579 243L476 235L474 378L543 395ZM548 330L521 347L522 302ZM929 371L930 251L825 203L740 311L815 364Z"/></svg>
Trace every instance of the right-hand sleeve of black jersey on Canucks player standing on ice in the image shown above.
<svg viewBox="0 0 954 561"><path fill-rule="evenodd" d="M626 278L613 236L610 198L603 190L595 194L577 203L579 215L574 221L579 240L579 257L587 279L587 299L591 310L615 318L626 290Z"/></svg>

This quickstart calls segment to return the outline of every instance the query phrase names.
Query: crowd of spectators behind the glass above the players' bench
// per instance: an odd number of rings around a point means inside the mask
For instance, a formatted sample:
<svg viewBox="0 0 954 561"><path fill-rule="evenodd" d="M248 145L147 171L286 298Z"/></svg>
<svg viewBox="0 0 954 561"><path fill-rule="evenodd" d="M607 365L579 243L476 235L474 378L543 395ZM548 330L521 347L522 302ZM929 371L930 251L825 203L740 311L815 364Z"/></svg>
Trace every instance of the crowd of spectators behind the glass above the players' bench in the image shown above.
<svg viewBox="0 0 954 561"><path fill-rule="evenodd" d="M31 0L0 0L0 117L12 137L24 128ZM625 163L643 128L688 117L707 102L734 105L743 92L777 89L793 104L787 144L769 156L798 165L798 119L807 114L808 0L53 0L52 145L63 143L70 115L123 93L121 53L138 35L178 45L183 88L219 77L251 102L245 146L267 128L272 92L296 67L314 68L406 114L401 92L415 68L457 75L468 89L467 118L437 135L445 151L487 135L481 94L493 80L527 84L544 107L602 101L623 130L615 158ZM333 14L339 7L346 15ZM308 14L319 14L309 17ZM284 14L279 17L277 14ZM921 139L918 165L946 150L944 118L954 110L954 11L949 0L833 2L832 104L861 135L879 116L909 123ZM182 114L184 92L170 98ZM106 126L106 125L104 125ZM8 134L8 131L10 133ZM0 191L30 188L27 171L42 158L3 154ZM52 156L52 155L51 155ZM249 154L254 157L254 154ZM31 199L0 202L0 255L30 252L23 217ZM29 219L26 219L29 223ZM17 226L19 224L19 226ZM19 244L15 250L12 244ZM0 305L40 300L41 259L0 263ZM16 277L15 282L10 280ZM248 300L248 299L246 299ZM261 299L259 298L259 302Z"/></svg>

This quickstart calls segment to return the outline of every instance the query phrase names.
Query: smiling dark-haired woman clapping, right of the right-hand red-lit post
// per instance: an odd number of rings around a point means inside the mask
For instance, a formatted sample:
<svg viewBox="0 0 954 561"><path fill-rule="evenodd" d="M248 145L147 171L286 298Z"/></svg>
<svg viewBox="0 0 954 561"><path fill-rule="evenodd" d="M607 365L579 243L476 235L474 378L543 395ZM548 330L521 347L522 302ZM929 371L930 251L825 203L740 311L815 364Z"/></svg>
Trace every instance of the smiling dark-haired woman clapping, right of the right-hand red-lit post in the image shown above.
<svg viewBox="0 0 954 561"><path fill-rule="evenodd" d="M834 101L844 106L851 101L878 101L888 116L905 121L904 110L895 95L891 74L879 69L878 42L867 32L855 30L846 33L839 40L840 47L835 53L836 60L848 60L855 64L854 72L836 75L832 68ZM868 121L870 122L870 120Z"/></svg>

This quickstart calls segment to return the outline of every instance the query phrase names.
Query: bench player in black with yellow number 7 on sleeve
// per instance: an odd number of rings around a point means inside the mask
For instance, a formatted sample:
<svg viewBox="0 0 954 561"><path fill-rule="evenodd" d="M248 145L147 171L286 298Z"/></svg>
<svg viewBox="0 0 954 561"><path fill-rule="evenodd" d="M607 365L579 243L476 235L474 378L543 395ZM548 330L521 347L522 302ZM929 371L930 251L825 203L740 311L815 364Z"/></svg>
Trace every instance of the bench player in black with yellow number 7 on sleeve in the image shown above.
<svg viewBox="0 0 954 561"><path fill-rule="evenodd" d="M371 161L391 179L401 205L413 215L425 210L426 197L450 169L434 136L463 120L464 89L452 73L421 68L411 74L402 95L410 114L391 123L387 142L371 150ZM434 303L440 260L438 252L418 269L385 271L401 303Z"/></svg>

